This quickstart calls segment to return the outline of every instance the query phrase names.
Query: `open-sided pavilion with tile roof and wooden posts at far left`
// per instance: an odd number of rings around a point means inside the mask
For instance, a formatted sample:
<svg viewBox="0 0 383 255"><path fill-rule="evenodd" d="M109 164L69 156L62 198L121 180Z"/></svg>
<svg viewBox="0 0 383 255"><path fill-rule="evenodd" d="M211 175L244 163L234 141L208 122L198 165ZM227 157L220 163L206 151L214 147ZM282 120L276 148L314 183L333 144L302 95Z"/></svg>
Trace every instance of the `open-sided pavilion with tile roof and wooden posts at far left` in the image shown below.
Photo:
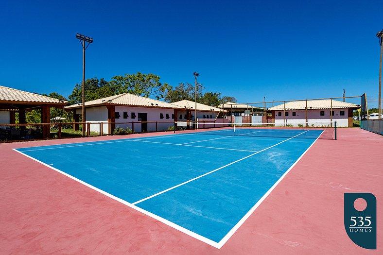
<svg viewBox="0 0 383 255"><path fill-rule="evenodd" d="M41 109L41 123L50 123L50 108L64 108L66 101L0 86L0 124L26 124L25 113ZM42 137L49 138L50 125L42 125Z"/></svg>

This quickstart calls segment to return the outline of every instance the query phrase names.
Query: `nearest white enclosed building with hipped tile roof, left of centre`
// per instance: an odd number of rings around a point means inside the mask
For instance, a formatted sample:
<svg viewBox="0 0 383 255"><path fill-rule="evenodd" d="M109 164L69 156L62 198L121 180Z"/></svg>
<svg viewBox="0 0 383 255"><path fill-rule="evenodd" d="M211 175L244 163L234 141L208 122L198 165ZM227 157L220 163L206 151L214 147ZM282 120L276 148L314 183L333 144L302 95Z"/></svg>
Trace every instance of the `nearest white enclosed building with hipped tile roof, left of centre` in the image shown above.
<svg viewBox="0 0 383 255"><path fill-rule="evenodd" d="M73 111L74 122L79 122L81 103L66 106L64 109ZM134 132L167 130L174 126L177 111L183 109L185 108L179 105L130 93L85 102L86 122L89 123L90 131L104 134L113 134L116 127L128 128ZM75 129L78 128L78 124L75 124Z"/></svg>

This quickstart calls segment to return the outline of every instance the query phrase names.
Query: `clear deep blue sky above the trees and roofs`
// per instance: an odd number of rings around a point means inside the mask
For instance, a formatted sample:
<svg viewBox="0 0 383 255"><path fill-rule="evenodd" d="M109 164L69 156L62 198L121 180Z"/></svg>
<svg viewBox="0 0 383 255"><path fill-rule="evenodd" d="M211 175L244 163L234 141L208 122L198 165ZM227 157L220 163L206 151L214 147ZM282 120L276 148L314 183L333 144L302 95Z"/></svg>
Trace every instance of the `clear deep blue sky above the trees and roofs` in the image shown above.
<svg viewBox="0 0 383 255"><path fill-rule="evenodd" d="M86 77L162 82L259 102L369 96L377 105L383 1L1 1L0 85L68 96ZM375 101L375 102L374 102Z"/></svg>

